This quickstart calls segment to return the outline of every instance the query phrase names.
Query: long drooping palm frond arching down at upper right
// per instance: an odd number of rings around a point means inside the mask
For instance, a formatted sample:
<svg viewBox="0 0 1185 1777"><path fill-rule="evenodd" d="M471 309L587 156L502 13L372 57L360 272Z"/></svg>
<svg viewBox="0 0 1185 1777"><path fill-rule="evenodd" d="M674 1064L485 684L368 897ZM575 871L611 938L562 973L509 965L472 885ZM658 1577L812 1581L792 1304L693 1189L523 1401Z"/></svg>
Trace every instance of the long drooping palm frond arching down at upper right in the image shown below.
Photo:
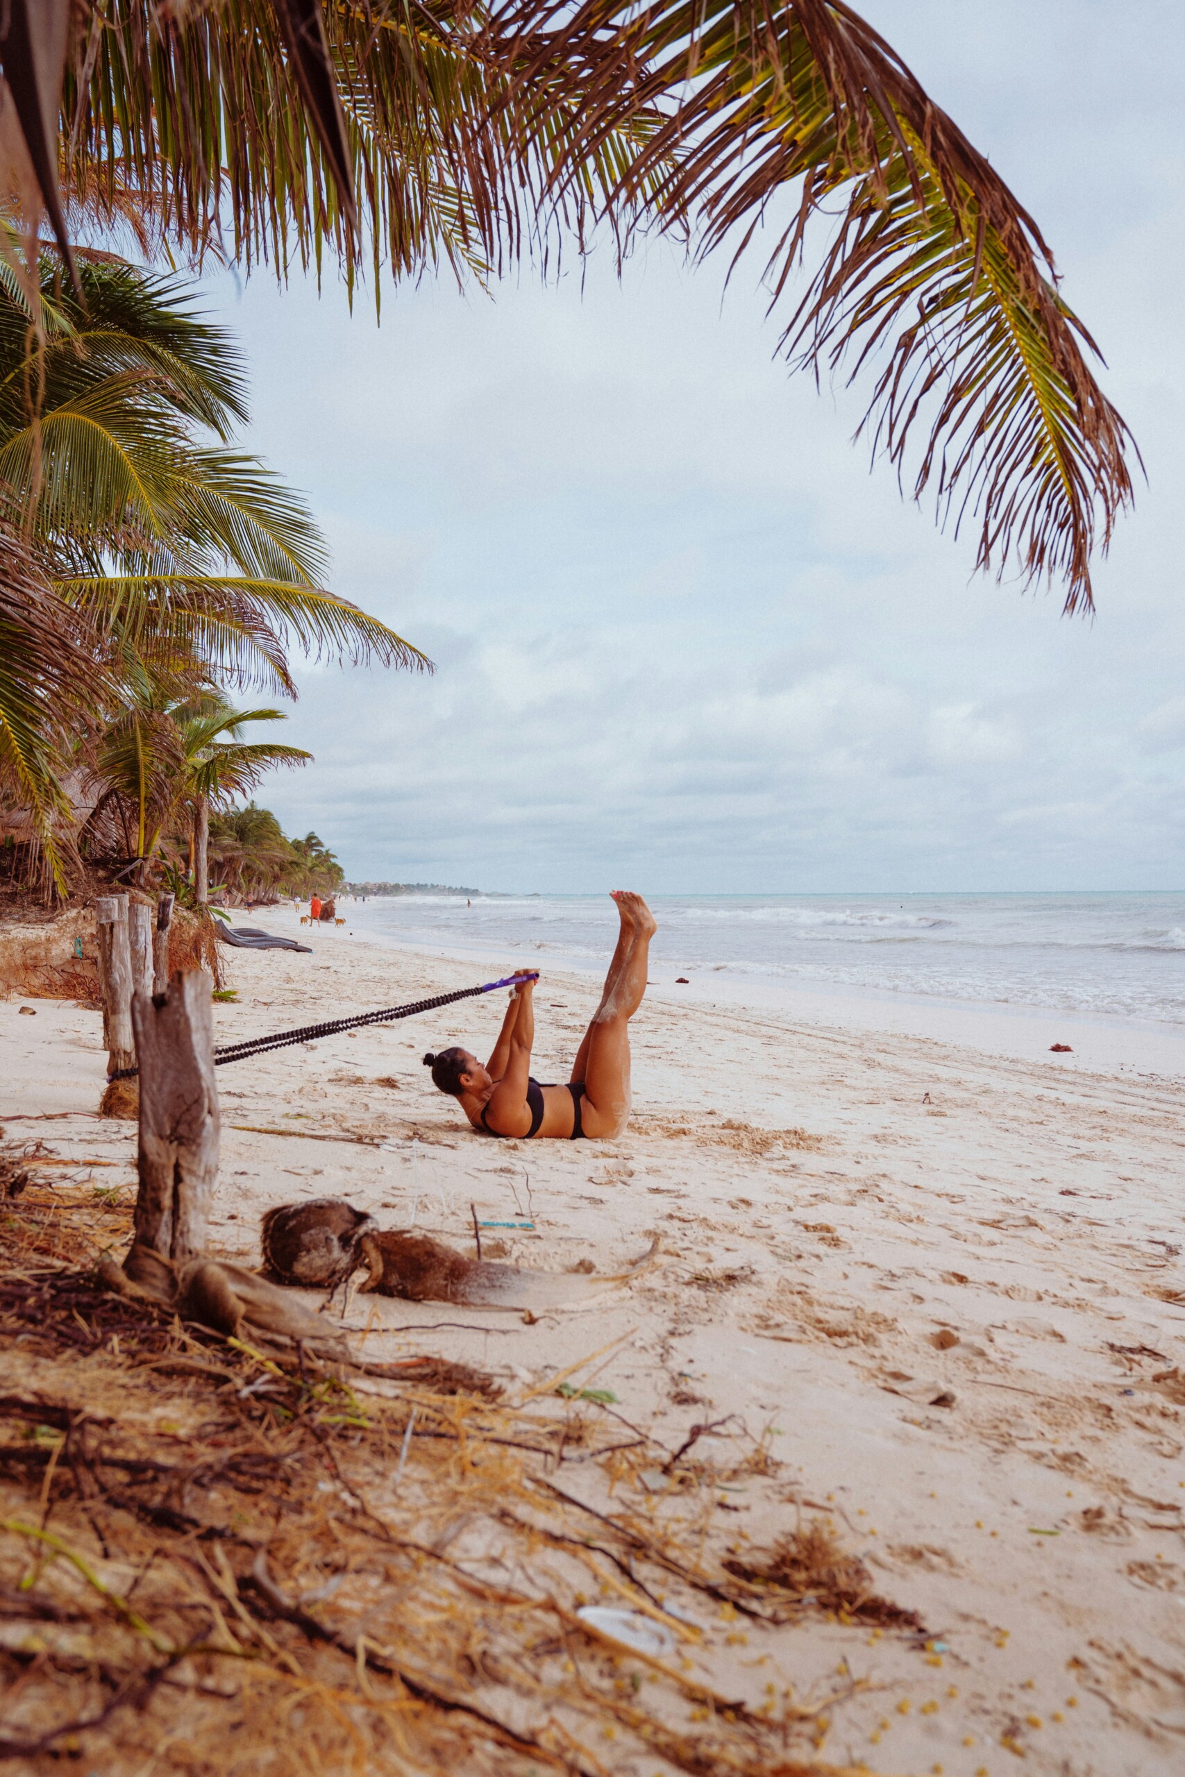
<svg viewBox="0 0 1185 1777"><path fill-rule="evenodd" d="M696 258L736 263L771 226L771 307L839 203L782 347L876 379L874 453L903 476L922 435L913 494L933 489L956 530L975 514L981 569L1062 578L1066 610L1091 608L1091 554L1132 499L1098 348L1034 219L871 25L842 0L526 0L489 41L524 92L545 71L588 84L586 149L631 105L661 114L613 201L634 227L686 231Z"/></svg>

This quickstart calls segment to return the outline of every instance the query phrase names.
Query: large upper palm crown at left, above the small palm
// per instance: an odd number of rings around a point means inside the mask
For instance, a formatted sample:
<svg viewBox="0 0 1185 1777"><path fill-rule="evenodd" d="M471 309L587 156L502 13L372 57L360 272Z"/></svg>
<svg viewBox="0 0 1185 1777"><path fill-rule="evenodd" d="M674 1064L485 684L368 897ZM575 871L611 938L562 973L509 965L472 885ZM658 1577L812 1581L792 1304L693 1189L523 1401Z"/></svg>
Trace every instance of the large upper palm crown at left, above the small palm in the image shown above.
<svg viewBox="0 0 1185 1777"><path fill-rule="evenodd" d="M59 272L43 261L41 338L20 286L0 284L0 482L62 599L121 650L197 654L288 695L291 640L425 666L323 590L325 546L304 499L229 448L247 405L226 329L203 322L176 279L89 263L76 297Z"/></svg>

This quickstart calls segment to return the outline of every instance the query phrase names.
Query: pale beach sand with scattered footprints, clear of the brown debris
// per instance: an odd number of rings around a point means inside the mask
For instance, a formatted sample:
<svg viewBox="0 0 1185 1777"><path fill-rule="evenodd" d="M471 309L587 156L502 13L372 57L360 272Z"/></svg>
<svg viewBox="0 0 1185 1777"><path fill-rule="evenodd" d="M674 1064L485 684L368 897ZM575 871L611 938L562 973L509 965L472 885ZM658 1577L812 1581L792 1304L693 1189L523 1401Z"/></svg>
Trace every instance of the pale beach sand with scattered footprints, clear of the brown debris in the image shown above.
<svg viewBox="0 0 1185 1777"><path fill-rule="evenodd" d="M473 956L348 928L313 942L313 956L227 952L240 1004L217 1009L219 1041L481 976ZM565 1077L595 997L593 977L547 967L542 1079ZM96 1183L130 1189L133 1128L92 1118L98 1015L36 1000L34 1020L18 1004L0 1004L0 1123L80 1176L110 1162ZM657 1231L641 1279L535 1326L368 1297L348 1320L366 1326L375 1304L373 1349L441 1351L533 1386L616 1340L579 1381L595 1374L627 1422L677 1448L730 1416L718 1448L769 1452L769 1473L721 1489L714 1535L744 1553L828 1510L878 1589L943 1644L817 1621L741 1642L709 1624L696 1660L737 1693L771 1679L810 1693L847 1661L860 1688L833 1711L828 1757L997 1777L1020 1749L1034 1772L1178 1772L1176 1070L1135 1072L1132 1052L1098 1059L1086 1041L1038 1064L1036 1047L1007 1050L1011 1032L993 1054L954 1027L938 1041L844 1022L839 999L823 1009L791 1018L659 984L634 1024L634 1121L609 1144L483 1143L432 1093L423 1050L490 1041L501 995L220 1070L213 1242L256 1262L263 1210L322 1194L387 1226L414 1208L467 1253L471 1203L490 1221L529 1207L535 1231L506 1231L508 1255L553 1271L618 1271Z"/></svg>

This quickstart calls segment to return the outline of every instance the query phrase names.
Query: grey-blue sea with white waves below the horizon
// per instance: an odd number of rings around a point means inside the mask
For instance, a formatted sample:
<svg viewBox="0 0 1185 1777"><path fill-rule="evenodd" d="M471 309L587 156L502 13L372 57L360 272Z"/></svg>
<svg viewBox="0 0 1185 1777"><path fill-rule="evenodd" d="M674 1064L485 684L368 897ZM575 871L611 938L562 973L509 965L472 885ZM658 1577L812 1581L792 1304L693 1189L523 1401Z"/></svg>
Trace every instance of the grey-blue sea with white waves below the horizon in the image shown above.
<svg viewBox="0 0 1185 1777"><path fill-rule="evenodd" d="M1185 1025L1181 894L654 896L652 974ZM600 972L604 896L350 903L377 938ZM743 997L743 992L736 993Z"/></svg>

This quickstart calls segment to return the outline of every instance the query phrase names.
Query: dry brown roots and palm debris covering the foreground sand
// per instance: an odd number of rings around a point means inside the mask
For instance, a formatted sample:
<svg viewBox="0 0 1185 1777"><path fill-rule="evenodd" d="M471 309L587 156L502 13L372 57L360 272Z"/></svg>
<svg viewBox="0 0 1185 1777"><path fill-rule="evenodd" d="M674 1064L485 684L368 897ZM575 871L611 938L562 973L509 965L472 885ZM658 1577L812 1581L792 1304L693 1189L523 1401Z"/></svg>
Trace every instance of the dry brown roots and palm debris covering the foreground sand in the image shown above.
<svg viewBox="0 0 1185 1777"><path fill-rule="evenodd" d="M432 1359L346 1379L130 1303L96 1281L130 1207L23 1169L0 1210L12 1770L78 1756L121 1773L165 1750L211 1777L275 1756L327 1773L840 1770L815 1749L851 1681L753 1702L695 1660L721 1615L757 1630L805 1606L775 1569L755 1583L709 1551L736 1461L663 1471L666 1452L595 1402L515 1406ZM583 1621L590 1599L661 1626L670 1653Z"/></svg>

